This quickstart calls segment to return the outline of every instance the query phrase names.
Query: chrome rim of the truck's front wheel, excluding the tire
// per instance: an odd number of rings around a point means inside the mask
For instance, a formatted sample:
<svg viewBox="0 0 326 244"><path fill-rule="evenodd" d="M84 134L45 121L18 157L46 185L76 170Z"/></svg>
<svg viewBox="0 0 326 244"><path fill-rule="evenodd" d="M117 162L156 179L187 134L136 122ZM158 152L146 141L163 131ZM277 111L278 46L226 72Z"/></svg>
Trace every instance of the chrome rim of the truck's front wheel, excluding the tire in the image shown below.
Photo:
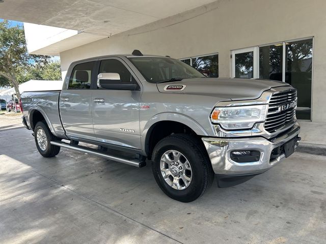
<svg viewBox="0 0 326 244"><path fill-rule="evenodd" d="M168 150L162 155L160 170L165 181L173 189L184 190L192 182L192 167L186 157L177 150Z"/></svg>

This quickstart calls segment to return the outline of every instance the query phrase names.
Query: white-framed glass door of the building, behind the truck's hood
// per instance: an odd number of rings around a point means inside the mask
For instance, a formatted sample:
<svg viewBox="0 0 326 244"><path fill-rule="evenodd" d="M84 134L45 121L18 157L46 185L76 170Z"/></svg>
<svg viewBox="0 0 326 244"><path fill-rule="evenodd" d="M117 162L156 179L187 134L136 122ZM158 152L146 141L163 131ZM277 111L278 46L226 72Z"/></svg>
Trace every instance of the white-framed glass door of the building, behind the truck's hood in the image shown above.
<svg viewBox="0 0 326 244"><path fill-rule="evenodd" d="M231 51L232 77L257 79L258 72L258 48L249 47Z"/></svg>

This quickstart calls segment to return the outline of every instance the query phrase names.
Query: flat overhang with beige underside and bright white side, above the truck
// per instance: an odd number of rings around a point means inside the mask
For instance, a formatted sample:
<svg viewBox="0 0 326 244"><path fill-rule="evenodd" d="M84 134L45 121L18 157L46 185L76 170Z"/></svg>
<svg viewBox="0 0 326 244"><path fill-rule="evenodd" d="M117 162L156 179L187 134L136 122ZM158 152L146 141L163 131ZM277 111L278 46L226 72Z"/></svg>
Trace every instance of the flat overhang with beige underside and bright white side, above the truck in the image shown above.
<svg viewBox="0 0 326 244"><path fill-rule="evenodd" d="M25 35L30 53L58 55L215 1L4 0L0 2L0 17L28 23ZM31 27L31 23L38 26ZM32 31L26 30L28 25Z"/></svg>

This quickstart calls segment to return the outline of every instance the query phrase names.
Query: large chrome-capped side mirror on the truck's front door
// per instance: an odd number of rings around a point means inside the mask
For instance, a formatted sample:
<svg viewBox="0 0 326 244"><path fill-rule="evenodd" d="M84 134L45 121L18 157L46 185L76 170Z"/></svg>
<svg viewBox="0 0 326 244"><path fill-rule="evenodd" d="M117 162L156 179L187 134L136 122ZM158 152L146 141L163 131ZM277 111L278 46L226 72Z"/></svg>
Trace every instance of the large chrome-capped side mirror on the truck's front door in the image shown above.
<svg viewBox="0 0 326 244"><path fill-rule="evenodd" d="M97 76L97 86L104 89L112 90L135 90L137 84L123 83L120 81L118 73L99 73Z"/></svg>

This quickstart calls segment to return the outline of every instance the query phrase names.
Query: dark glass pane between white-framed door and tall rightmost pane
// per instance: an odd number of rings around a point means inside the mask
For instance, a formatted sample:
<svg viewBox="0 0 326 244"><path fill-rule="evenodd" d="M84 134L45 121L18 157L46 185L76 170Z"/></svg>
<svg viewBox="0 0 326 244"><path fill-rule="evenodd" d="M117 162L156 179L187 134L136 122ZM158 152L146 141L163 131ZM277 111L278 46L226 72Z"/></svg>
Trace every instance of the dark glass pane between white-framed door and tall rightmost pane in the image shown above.
<svg viewBox="0 0 326 244"><path fill-rule="evenodd" d="M259 78L282 81L283 44L259 47Z"/></svg>

